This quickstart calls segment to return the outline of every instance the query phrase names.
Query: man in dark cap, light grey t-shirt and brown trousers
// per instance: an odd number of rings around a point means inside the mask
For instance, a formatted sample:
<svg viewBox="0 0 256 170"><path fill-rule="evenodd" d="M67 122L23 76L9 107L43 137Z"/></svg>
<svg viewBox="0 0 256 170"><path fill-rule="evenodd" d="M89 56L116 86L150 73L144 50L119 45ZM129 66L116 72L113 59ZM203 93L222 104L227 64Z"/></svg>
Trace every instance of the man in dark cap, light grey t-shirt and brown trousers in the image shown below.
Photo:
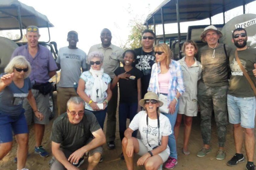
<svg viewBox="0 0 256 170"><path fill-rule="evenodd" d="M78 33L69 31L67 41L69 46L59 49L56 64L60 72L60 79L57 88L57 105L58 114L66 112L67 101L72 96L78 96L75 85L78 84L79 77L82 71L86 71L86 53L76 47L78 42Z"/></svg>

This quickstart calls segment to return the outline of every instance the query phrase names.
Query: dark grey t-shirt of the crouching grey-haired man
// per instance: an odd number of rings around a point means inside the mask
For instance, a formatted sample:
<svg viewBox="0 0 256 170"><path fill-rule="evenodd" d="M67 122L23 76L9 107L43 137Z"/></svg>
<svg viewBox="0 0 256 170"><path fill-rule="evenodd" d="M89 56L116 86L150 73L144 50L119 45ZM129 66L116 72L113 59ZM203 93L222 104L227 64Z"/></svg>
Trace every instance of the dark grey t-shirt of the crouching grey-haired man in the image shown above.
<svg viewBox="0 0 256 170"><path fill-rule="evenodd" d="M67 113L63 113L53 122L50 139L61 144L61 148L74 152L85 146L92 132L101 128L93 113L86 111L83 119L76 125L69 122Z"/></svg>

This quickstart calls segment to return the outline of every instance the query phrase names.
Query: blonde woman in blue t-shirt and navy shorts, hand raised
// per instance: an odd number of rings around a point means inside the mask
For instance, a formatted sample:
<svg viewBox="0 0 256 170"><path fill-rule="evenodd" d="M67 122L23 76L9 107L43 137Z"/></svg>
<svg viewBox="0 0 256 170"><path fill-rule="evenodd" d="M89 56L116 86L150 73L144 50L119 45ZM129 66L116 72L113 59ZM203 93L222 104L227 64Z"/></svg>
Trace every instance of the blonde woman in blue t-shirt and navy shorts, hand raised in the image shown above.
<svg viewBox="0 0 256 170"><path fill-rule="evenodd" d="M35 98L31 92L29 74L30 63L24 56L14 57L5 67L0 77L0 160L11 150L12 131L18 143L17 169L25 168L28 153L28 127L22 108L27 97L35 116L40 120L43 114L37 109Z"/></svg>

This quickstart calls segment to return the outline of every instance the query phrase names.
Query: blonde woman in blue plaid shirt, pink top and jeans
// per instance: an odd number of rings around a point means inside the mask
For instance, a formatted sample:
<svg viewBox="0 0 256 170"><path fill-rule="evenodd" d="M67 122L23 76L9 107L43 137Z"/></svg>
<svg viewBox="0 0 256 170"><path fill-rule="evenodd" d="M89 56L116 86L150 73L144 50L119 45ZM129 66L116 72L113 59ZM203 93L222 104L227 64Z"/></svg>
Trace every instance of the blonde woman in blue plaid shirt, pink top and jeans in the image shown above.
<svg viewBox="0 0 256 170"><path fill-rule="evenodd" d="M173 131L179 107L178 98L184 92L181 66L179 62L172 60L172 52L167 44L156 45L154 51L156 63L152 66L148 91L166 97L167 106L163 107L167 108L162 113L168 117ZM170 155L165 168L172 169L177 164L174 133L169 135L168 146Z"/></svg>

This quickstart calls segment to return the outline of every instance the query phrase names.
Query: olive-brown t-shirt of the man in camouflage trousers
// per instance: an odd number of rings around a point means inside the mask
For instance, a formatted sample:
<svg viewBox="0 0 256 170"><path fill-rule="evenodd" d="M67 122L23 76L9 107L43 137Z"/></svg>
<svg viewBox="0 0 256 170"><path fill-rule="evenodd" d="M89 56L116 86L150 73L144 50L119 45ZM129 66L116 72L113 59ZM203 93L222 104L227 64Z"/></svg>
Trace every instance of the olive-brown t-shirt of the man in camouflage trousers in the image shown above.
<svg viewBox="0 0 256 170"><path fill-rule="evenodd" d="M226 52L229 56L231 48L226 45ZM198 61L202 64L203 82L211 87L228 85L228 63L223 44L215 48L213 58L213 48L208 45L199 49Z"/></svg>

